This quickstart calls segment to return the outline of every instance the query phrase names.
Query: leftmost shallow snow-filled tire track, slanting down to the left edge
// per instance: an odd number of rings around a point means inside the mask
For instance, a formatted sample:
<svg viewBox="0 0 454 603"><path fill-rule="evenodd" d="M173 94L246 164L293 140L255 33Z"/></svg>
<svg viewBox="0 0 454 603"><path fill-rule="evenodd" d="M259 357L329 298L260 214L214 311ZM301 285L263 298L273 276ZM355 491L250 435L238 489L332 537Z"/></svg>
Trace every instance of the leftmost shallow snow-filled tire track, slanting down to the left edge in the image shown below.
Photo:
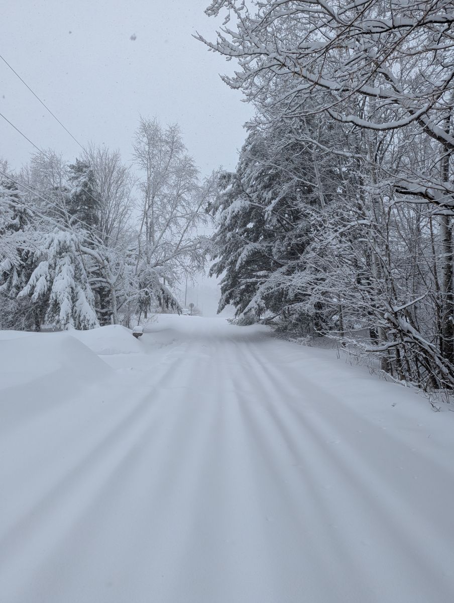
<svg viewBox="0 0 454 603"><path fill-rule="evenodd" d="M95 432L96 439L88 450L76 447L72 463L60 466L60 472L56 476L50 472L52 483L48 484L39 500L26 501L26 510L21 510L22 513L15 517L8 531L0 538L0 585L2 575L8 575L9 581L11 576L17 575L17 581L20 583L20 575L24 571L24 557L42 557L42 553L37 554L37 550L41 547L40 543L49 543L49 540L53 543L45 554L51 554L52 548L57 546L58 541L77 523L84 508L92 504L93 497L96 500L104 484L115 478L116 470L124 459L128 458L137 440L140 440L144 430L147 430L148 422L159 411L159 400L150 399L153 397L153 391L159 388L170 374L172 378L178 377L182 362L184 358L166 366L153 390L147 391L139 400L134 400L132 408L125 405L127 412L116 415L115 423L110 423L109 409L106 408L107 429L102 429L97 434ZM80 432L76 434L78 437L81 435ZM58 529L55 529L56 525ZM32 563L29 571L33 571ZM0 592L3 592L1 586ZM33 598L33 601L35 600L36 594Z"/></svg>

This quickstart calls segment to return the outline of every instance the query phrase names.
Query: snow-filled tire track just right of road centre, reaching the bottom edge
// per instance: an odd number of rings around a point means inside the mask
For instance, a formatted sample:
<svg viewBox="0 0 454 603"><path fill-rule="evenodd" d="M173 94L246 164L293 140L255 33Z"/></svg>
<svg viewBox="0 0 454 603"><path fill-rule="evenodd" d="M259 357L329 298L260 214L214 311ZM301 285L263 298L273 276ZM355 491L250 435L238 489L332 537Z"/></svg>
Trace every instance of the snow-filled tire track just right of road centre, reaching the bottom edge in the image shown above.
<svg viewBox="0 0 454 603"><path fill-rule="evenodd" d="M301 596L307 601L327 603L329 601L352 601L352 577L345 572L345 559L351 557L344 543L336 543L332 533L326 529L330 518L325 500L319 494L320 482L313 479L306 450L301 450L300 426L292 421L292 434L286 421L277 419L274 406L284 403L285 389L276 391L270 384L269 373L257 371L256 362L251 362L250 351L239 353L244 378L254 382L254 399L241 399L244 424L247 426L251 446L262 467L255 475L265 479L257 481L260 498L268 500L267 514L271 516L268 548L274 551L274 572L280 579L282 601L298 601ZM294 467L303 467L296 473ZM274 493L270 497L270 493ZM333 549L338 554L333 555ZM326 560L329 558L329 564ZM353 561L351 566L354 567ZM323 584L322 584L323 582ZM367 581L356 577L356 591L361 593L358 601L373 602L373 593ZM291 588L288 586L291 585ZM329 594L331 593L331 595ZM335 593L335 598L332 598ZM266 601L275 601L270 598Z"/></svg>

